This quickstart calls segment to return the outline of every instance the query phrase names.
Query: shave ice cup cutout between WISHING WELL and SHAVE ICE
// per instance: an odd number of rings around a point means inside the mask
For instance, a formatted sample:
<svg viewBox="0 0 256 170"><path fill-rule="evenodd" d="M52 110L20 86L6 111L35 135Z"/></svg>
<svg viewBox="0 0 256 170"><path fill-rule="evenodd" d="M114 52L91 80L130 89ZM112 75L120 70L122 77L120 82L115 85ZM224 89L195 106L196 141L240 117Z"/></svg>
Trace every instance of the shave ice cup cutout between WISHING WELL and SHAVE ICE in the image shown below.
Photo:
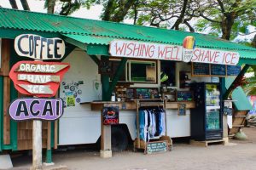
<svg viewBox="0 0 256 170"><path fill-rule="evenodd" d="M183 61L188 63L193 57L195 48L195 37L187 36L183 40Z"/></svg>

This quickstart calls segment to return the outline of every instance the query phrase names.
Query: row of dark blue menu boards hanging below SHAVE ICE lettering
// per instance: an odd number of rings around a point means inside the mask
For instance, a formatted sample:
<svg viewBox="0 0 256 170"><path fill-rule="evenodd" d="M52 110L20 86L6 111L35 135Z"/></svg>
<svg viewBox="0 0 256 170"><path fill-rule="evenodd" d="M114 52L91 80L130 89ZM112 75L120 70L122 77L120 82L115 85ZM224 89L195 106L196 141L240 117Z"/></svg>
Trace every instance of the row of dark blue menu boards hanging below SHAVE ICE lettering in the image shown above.
<svg viewBox="0 0 256 170"><path fill-rule="evenodd" d="M192 77L226 77L237 76L241 71L239 65L210 65L192 63Z"/></svg>

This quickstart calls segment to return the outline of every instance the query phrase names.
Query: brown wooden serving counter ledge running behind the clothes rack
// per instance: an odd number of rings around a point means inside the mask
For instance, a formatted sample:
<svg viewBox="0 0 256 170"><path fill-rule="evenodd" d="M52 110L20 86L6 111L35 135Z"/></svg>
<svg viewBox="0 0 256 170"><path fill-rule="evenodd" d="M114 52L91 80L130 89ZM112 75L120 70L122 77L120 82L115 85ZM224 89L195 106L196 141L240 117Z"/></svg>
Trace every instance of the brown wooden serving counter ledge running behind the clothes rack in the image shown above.
<svg viewBox="0 0 256 170"><path fill-rule="evenodd" d="M149 102L148 102L149 103ZM187 109L195 108L195 102L166 102L166 110L168 109L177 109L178 104L186 104ZM90 103L91 111L101 111L105 106L119 106L120 111L136 111L137 104L135 101L127 101L127 102L112 102L112 101L95 101Z"/></svg>

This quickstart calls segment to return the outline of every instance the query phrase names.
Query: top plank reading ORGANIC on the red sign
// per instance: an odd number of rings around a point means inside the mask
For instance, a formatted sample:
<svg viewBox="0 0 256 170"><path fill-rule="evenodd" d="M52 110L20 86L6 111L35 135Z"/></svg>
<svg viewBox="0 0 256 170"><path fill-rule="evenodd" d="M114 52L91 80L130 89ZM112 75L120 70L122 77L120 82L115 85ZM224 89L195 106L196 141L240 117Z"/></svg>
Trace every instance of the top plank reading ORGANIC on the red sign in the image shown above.
<svg viewBox="0 0 256 170"><path fill-rule="evenodd" d="M21 63L16 71L18 72L42 72L42 73L56 73L65 69L68 65L47 65L47 64L29 64Z"/></svg>

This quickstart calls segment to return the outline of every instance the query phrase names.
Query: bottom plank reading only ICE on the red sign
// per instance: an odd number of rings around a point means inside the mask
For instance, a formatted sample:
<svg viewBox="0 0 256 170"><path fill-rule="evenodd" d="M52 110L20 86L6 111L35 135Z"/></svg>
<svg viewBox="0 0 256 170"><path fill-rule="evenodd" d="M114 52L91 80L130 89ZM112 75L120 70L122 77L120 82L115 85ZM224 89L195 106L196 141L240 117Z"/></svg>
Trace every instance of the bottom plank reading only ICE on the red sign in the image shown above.
<svg viewBox="0 0 256 170"><path fill-rule="evenodd" d="M21 88L24 88L30 94L53 94L53 91L48 85L26 85L18 84Z"/></svg>

